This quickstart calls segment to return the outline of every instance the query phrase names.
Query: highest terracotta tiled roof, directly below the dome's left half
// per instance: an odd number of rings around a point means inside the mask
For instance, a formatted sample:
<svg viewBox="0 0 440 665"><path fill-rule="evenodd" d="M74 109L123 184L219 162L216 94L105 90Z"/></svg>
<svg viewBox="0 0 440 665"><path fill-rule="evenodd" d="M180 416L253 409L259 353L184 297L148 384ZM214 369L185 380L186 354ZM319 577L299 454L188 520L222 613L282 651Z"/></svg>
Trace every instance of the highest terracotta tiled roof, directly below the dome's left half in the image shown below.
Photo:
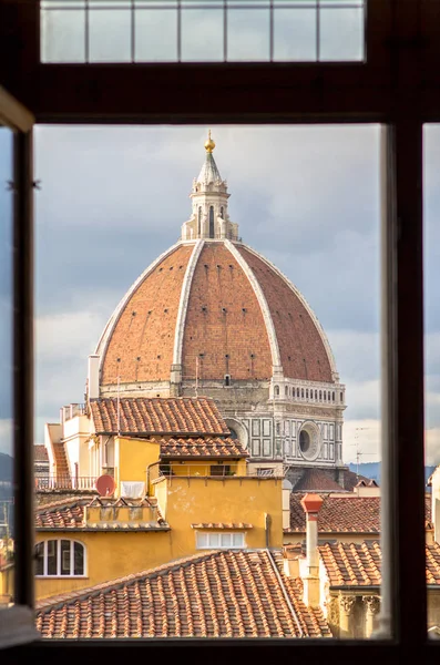
<svg viewBox="0 0 440 665"><path fill-rule="evenodd" d="M96 433L117 432L117 399L91 400ZM122 433L207 436L228 434L213 399L201 398L121 398Z"/></svg>

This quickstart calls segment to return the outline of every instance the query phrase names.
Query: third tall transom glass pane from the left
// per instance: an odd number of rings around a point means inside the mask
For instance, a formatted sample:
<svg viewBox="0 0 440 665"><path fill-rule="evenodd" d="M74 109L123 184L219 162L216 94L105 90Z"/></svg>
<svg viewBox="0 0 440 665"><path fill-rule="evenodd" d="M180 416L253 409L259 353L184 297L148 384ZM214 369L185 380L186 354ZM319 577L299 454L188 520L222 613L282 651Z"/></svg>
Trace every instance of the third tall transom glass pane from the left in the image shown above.
<svg viewBox="0 0 440 665"><path fill-rule="evenodd" d="M177 12L136 11L134 38L136 62L177 60Z"/></svg>

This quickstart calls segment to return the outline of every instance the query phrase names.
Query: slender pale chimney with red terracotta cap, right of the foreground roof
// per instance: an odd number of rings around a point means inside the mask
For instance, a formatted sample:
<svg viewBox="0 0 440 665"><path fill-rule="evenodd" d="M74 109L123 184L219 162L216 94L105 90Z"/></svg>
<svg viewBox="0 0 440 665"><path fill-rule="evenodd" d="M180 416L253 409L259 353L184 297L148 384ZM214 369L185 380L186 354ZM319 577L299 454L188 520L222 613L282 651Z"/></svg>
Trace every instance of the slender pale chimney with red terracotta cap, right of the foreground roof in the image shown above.
<svg viewBox="0 0 440 665"><path fill-rule="evenodd" d="M306 494L301 499L307 523L307 560L304 583L304 602L309 607L319 607L319 553L318 553L318 512L323 499L318 494Z"/></svg>

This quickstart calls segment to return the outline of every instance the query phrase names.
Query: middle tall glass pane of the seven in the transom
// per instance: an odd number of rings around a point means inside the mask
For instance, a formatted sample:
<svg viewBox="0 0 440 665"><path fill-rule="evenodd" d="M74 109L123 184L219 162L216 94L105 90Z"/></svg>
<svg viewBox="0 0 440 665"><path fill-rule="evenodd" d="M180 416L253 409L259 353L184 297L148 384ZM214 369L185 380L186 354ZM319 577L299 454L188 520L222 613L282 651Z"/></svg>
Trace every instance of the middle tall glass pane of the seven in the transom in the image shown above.
<svg viewBox="0 0 440 665"><path fill-rule="evenodd" d="M223 59L223 10L182 10L182 60Z"/></svg>

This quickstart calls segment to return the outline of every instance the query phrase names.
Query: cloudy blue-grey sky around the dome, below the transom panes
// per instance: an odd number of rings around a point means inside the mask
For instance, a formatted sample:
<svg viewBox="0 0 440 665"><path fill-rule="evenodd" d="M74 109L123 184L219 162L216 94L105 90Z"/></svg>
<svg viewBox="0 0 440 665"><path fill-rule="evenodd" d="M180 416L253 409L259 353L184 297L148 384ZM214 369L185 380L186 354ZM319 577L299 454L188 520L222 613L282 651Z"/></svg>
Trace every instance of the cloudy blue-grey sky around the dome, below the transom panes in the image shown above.
<svg viewBox="0 0 440 665"><path fill-rule="evenodd" d="M120 298L180 235L207 127L35 130L37 442L59 408L82 401L86 358ZM378 126L213 126L229 214L245 243L301 290L347 386L345 460L379 459ZM7 137L0 133L7 180ZM426 142L427 443L440 462L440 130ZM7 209L10 194L2 192ZM10 250L2 224L2 256ZM3 374L0 450L8 450L10 279L0 264Z"/></svg>

